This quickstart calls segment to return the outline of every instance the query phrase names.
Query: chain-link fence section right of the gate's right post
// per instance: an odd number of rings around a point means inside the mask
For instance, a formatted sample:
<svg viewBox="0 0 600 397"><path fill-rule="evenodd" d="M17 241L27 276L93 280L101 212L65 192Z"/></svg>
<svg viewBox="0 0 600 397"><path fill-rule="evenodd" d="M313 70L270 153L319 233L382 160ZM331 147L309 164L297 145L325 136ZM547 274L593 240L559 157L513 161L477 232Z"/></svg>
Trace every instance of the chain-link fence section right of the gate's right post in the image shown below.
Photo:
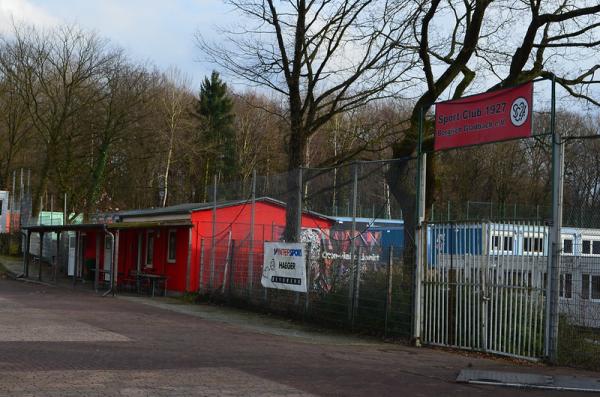
<svg viewBox="0 0 600 397"><path fill-rule="evenodd" d="M558 288L558 360L600 369L600 139L578 128L563 140L564 202ZM575 138L578 136L579 138Z"/></svg>

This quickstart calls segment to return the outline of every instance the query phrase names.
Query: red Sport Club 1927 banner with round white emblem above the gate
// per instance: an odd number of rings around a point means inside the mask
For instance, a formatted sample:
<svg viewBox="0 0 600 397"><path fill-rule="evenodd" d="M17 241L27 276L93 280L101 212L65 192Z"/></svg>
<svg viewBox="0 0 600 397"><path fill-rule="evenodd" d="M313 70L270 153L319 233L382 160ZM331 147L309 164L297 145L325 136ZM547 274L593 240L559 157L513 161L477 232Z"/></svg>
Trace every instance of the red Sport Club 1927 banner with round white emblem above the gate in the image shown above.
<svg viewBox="0 0 600 397"><path fill-rule="evenodd" d="M435 105L435 150L531 136L533 83Z"/></svg>

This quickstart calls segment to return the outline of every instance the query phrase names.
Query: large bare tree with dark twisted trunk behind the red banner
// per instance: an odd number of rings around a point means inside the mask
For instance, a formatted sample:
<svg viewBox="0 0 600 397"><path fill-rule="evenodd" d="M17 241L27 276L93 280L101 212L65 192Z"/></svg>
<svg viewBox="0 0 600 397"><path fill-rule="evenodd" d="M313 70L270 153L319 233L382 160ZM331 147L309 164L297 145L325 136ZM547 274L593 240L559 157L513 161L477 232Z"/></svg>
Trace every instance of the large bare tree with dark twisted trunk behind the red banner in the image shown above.
<svg viewBox="0 0 600 397"><path fill-rule="evenodd" d="M600 5L587 0L432 0L414 2L414 48L423 69L409 128L393 145L393 156L414 155L420 112L440 98L469 90L500 88L555 76L570 95L598 105L590 88L599 81ZM451 24L448 28L448 21ZM591 60L591 62L590 62ZM490 87L489 81L495 81ZM427 139L426 148L431 147ZM430 156L431 157L431 156ZM407 230L414 226L414 184L401 178L411 162L398 162L390 185L404 209ZM428 191L434 163L428 163ZM405 183L410 181L410 183ZM428 194L428 199L433 196Z"/></svg>

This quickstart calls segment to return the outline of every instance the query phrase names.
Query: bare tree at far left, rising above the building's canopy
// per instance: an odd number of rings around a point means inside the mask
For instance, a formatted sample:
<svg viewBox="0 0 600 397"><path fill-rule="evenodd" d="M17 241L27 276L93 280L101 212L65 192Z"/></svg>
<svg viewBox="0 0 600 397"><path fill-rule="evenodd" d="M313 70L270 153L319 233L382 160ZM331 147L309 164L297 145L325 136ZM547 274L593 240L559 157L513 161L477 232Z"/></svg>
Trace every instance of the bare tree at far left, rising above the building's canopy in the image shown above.
<svg viewBox="0 0 600 397"><path fill-rule="evenodd" d="M39 198L59 166L59 152L72 154L64 139L73 132L70 123L99 100L98 90L91 88L101 84L102 70L115 54L105 41L75 27L48 32L15 27L12 33L0 43L0 72L15 82L44 148L33 191L35 216Z"/></svg>

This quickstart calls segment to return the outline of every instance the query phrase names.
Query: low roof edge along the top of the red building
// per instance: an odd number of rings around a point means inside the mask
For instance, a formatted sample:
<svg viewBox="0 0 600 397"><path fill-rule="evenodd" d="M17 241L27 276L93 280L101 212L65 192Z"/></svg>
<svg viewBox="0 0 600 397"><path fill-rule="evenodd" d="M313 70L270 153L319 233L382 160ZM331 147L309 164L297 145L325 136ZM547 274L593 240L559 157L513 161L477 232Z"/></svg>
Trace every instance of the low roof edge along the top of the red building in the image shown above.
<svg viewBox="0 0 600 397"><path fill-rule="evenodd" d="M274 205L277 205L280 207L286 206L286 203L284 203L283 201L279 201L279 200L276 200L271 197L257 197L255 201L256 202L266 202L266 203L274 204ZM217 209L226 208L226 207L232 207L232 206L241 205L241 204L250 205L251 201L249 199L248 200L221 201L221 202L217 202L216 208ZM120 212L117 212L115 215L119 218L135 218L135 217L148 217L148 216L161 216L161 215L183 215L183 214L189 214L193 211L212 209L213 206L214 206L214 203L212 203L212 202L211 203L186 203L186 204L172 205L169 207L143 208L143 209L138 209L138 210L120 211ZM304 210L303 212L305 214L323 218L328 221L333 220L331 217L320 214L318 212L307 211L307 210Z"/></svg>

